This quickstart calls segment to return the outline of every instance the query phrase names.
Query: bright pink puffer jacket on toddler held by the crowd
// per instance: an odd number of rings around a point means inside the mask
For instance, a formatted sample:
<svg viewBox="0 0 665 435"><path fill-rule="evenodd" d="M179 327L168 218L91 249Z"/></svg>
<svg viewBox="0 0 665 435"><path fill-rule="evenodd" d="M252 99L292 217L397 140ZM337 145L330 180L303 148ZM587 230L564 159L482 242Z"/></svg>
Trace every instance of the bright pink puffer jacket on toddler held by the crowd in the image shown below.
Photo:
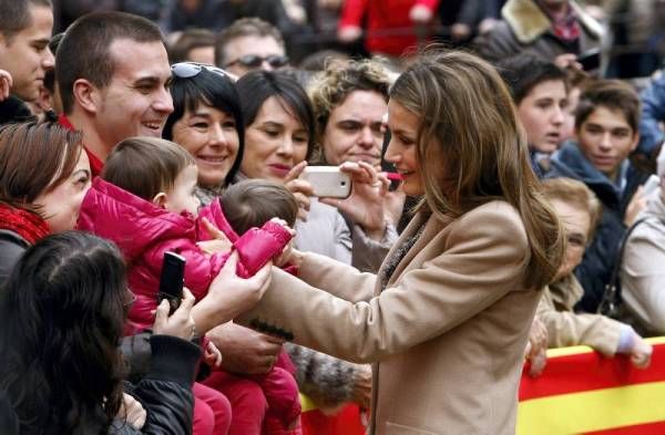
<svg viewBox="0 0 665 435"><path fill-rule="evenodd" d="M231 225L224 218L218 200L200 210L197 218L183 213L166 211L101 178L95 178L85 195L79 215L78 229L93 232L117 245L129 265L129 286L136 296L129 315L127 333L149 328L154 322L156 293L165 251L185 257L185 287L196 300L208 291L231 252L204 253L196 241L207 237L202 218L225 232ZM227 232L228 234L228 232ZM233 232L235 235L235 232ZM229 240L238 252L236 273L250 277L269 259L282 252L291 236L280 225L266 222L242 237Z"/></svg>

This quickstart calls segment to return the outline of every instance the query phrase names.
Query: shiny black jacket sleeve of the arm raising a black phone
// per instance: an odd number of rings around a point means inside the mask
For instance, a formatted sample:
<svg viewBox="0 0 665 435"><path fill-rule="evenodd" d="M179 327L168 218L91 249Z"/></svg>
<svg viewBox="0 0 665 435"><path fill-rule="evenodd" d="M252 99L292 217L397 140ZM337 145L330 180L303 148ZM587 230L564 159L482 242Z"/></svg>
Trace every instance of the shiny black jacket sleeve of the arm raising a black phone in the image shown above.
<svg viewBox="0 0 665 435"><path fill-rule="evenodd" d="M195 344L168 335L153 335L150 342L153 352L151 371L132 393L147 413L142 433L191 434L194 410L192 384L201 350Z"/></svg>

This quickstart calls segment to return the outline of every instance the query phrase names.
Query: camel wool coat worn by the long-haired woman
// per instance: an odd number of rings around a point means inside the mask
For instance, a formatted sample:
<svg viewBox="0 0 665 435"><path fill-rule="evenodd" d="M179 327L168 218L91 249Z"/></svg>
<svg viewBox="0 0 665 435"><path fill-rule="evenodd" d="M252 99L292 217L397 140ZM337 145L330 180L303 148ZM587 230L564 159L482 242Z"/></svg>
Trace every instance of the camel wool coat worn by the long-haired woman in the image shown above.
<svg viewBox="0 0 665 435"><path fill-rule="evenodd" d="M542 294L523 283L522 220L500 200L446 221L421 211L387 261L421 225L383 290L375 275L305 253L303 281L274 268L262 301L237 321L375 363L369 434L513 434Z"/></svg>

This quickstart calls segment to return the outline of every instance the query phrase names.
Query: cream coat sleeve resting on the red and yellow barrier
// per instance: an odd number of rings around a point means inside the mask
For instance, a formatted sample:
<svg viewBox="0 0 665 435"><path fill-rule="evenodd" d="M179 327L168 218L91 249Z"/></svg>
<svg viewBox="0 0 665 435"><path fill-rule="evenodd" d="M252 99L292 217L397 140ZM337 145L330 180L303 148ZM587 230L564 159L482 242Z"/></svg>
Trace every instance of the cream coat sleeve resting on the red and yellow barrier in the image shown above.
<svg viewBox="0 0 665 435"><path fill-rule="evenodd" d="M585 344L605 356L613 356L618 346L621 323L598 314L577 314L556 311L545 289L538 305L538 318L548 328L549 348Z"/></svg>

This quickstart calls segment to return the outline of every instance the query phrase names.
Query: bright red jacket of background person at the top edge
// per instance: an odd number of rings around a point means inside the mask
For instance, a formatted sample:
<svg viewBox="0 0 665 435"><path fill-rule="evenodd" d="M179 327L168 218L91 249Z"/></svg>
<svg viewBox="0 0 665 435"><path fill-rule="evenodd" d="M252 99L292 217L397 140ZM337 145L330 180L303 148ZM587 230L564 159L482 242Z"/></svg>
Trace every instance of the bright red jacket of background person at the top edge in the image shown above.
<svg viewBox="0 0 665 435"><path fill-rule="evenodd" d="M436 17L439 0L345 0L339 28L359 28L366 17L367 51L399 56L418 43L416 24L409 18L409 11L416 4L427 7ZM396 33L390 34L391 29Z"/></svg>

